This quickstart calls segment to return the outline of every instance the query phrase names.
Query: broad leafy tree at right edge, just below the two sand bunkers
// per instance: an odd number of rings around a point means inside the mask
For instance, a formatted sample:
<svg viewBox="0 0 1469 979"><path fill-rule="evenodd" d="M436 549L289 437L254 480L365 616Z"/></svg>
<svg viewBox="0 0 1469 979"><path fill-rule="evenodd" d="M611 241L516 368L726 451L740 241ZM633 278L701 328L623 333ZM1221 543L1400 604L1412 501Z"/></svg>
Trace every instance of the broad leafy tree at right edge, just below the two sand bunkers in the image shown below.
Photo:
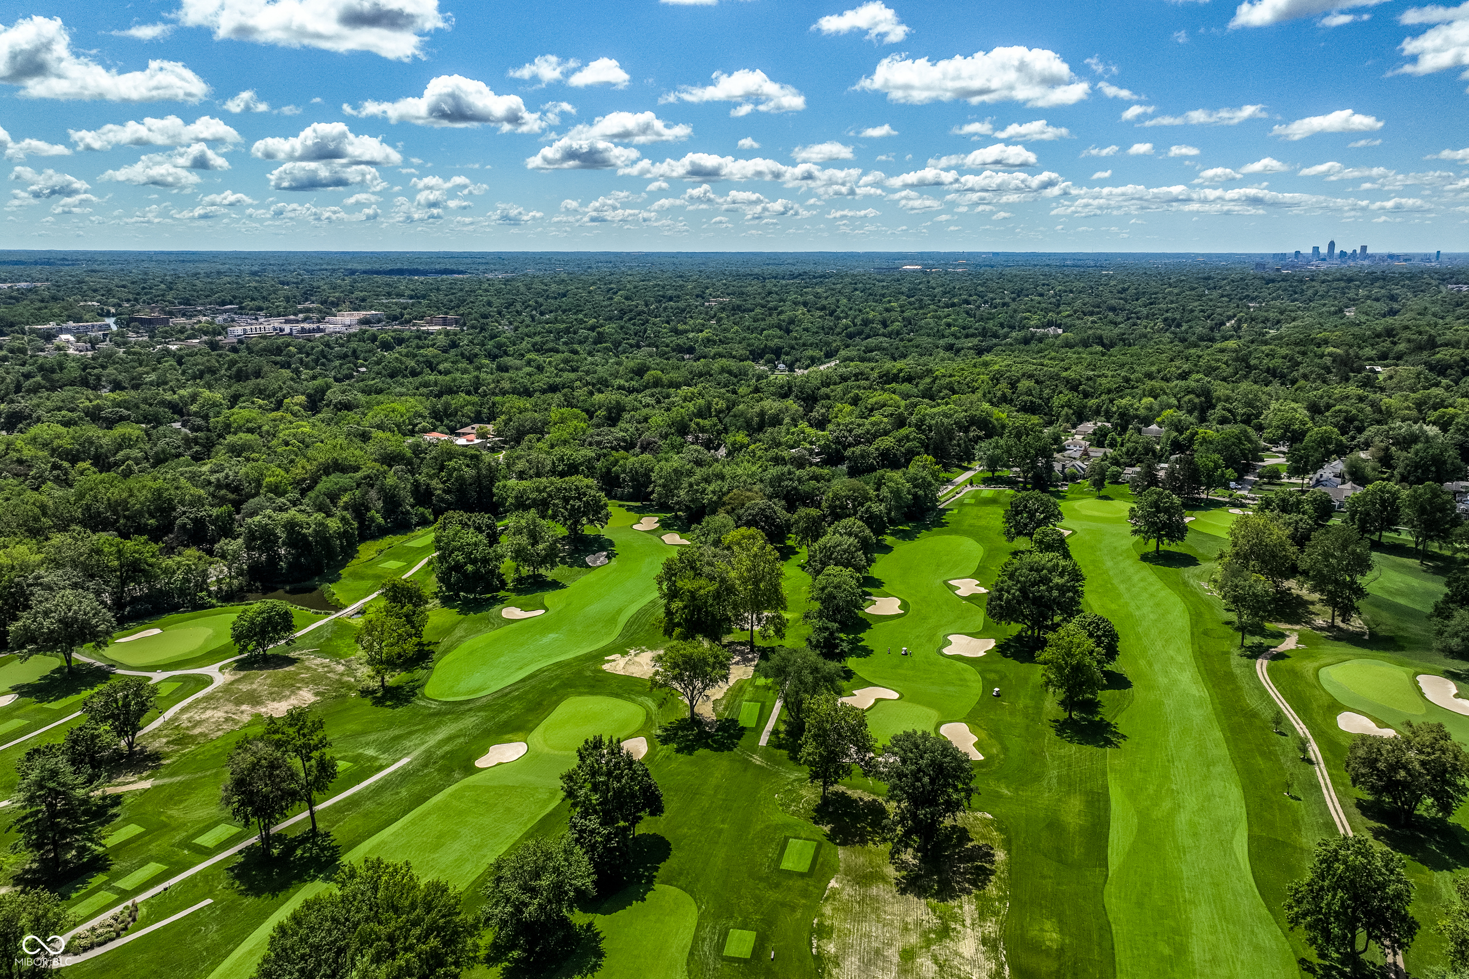
<svg viewBox="0 0 1469 979"><path fill-rule="evenodd" d="M1443 724L1404 721L1396 738L1359 734L1347 749L1351 784L1407 822L1426 803L1448 819L1469 796L1469 751Z"/></svg>

